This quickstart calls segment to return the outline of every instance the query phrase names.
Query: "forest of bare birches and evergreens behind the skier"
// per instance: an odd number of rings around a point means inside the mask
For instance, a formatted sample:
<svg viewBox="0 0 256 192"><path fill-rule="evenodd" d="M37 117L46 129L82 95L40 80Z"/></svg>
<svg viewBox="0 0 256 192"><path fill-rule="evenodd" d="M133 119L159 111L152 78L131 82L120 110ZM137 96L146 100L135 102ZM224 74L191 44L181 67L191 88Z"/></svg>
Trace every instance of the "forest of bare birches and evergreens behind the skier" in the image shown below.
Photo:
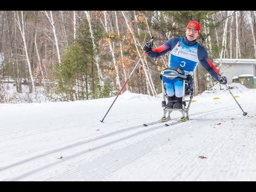
<svg viewBox="0 0 256 192"><path fill-rule="evenodd" d="M184 37L190 20L201 24L197 41L212 61L255 59L255 13L0 11L0 103L10 102L5 97L10 86L17 94L28 90L35 97L43 89L50 101L115 96L140 59L143 45L152 36L155 47L171 37ZM157 59L143 56L123 91L161 93L159 73L168 58L169 53ZM221 72L221 65L217 68ZM217 83L200 63L194 82L195 95Z"/></svg>

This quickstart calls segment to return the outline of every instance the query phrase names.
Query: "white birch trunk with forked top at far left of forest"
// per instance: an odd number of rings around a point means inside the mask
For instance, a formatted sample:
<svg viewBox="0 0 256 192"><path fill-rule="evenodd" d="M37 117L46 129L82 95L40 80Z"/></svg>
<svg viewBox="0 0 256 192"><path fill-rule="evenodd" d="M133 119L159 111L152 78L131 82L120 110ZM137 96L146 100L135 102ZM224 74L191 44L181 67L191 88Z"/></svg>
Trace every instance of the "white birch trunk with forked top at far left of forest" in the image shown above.
<svg viewBox="0 0 256 192"><path fill-rule="evenodd" d="M23 15L23 11L21 11L21 18L19 16L19 11L16 11L16 17L17 19L15 19L15 22L17 23L19 30L20 30L20 34L22 37L22 41L23 41L23 45L24 45L24 50L26 53L26 60L27 60L27 64L28 64L28 70L29 70L29 76L31 79L31 85L32 85L32 92L36 91L36 87L35 87L35 82L34 82L34 78L33 78L33 71L31 69L31 63L30 63L30 59L28 56L28 48L27 48L27 42L26 42L26 34L25 34L25 22L24 22L24 15Z"/></svg>

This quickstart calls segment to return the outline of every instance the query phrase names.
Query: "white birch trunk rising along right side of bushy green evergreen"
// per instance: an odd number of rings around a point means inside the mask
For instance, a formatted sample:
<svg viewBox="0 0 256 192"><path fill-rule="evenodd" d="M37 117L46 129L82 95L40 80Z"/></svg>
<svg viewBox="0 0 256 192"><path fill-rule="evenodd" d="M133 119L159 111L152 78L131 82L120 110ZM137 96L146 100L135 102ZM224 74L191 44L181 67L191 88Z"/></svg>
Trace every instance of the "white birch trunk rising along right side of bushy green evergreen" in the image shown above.
<svg viewBox="0 0 256 192"><path fill-rule="evenodd" d="M103 77L102 77L102 73L101 73L101 69L100 69L100 64L99 64L99 56L97 54L97 48L96 48L96 44L94 42L94 35L93 35L93 30L92 30L92 21L91 21L91 15L89 13L89 11L84 11L87 21L89 23L89 29L90 29L90 35L91 35L91 39L92 39L92 46L93 46L93 56L94 56L94 60L95 60L95 64L98 70L98 77L99 77L99 83L100 85L103 87L104 86L104 82L103 82Z"/></svg>

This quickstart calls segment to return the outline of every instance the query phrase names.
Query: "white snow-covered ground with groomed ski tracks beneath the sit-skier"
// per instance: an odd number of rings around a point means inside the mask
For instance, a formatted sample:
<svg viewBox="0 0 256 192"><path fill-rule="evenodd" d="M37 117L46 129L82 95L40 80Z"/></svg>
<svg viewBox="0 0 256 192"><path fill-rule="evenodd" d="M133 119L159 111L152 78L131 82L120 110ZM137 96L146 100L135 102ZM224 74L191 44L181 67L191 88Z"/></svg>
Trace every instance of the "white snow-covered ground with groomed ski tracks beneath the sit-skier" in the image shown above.
<svg viewBox="0 0 256 192"><path fill-rule="evenodd" d="M0 104L0 180L255 181L256 90L229 86L247 116L217 84L171 126L142 125L162 117L161 95L126 91L105 123L115 97Z"/></svg>

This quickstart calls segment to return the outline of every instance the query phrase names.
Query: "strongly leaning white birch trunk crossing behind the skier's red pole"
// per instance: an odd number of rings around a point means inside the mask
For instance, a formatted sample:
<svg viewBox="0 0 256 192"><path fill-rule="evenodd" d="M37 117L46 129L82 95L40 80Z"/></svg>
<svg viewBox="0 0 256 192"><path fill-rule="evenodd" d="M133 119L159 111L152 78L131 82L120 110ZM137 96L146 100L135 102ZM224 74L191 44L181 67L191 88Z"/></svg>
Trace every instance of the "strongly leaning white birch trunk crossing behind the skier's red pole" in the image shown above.
<svg viewBox="0 0 256 192"><path fill-rule="evenodd" d="M135 38L135 35L134 35L134 33L133 33L133 30L132 30L131 26L130 26L129 23L128 23L128 20L127 20L127 18L126 18L126 15L125 15L124 11L122 11L122 14L123 14L123 16L124 16L126 26L127 26L127 28L130 30L130 32L131 32L131 34L132 34L132 37L133 37L133 40L134 40L134 45L135 45L135 47L136 47L136 50L137 50L137 52L138 52L138 55L139 55L139 57L141 57L140 51L139 51L139 48L138 48L138 45L137 45L137 39ZM147 73L147 70L146 70L145 63L144 63L143 60L141 60L141 62L142 62L142 68L143 68L143 70L144 70L144 72L145 72L145 77L146 77L147 93L150 95L149 90L151 90L151 93L155 96L155 92L154 92L154 90L153 90L153 85L151 85L151 83L150 83L150 79L149 79L149 76L148 76L148 73Z"/></svg>

